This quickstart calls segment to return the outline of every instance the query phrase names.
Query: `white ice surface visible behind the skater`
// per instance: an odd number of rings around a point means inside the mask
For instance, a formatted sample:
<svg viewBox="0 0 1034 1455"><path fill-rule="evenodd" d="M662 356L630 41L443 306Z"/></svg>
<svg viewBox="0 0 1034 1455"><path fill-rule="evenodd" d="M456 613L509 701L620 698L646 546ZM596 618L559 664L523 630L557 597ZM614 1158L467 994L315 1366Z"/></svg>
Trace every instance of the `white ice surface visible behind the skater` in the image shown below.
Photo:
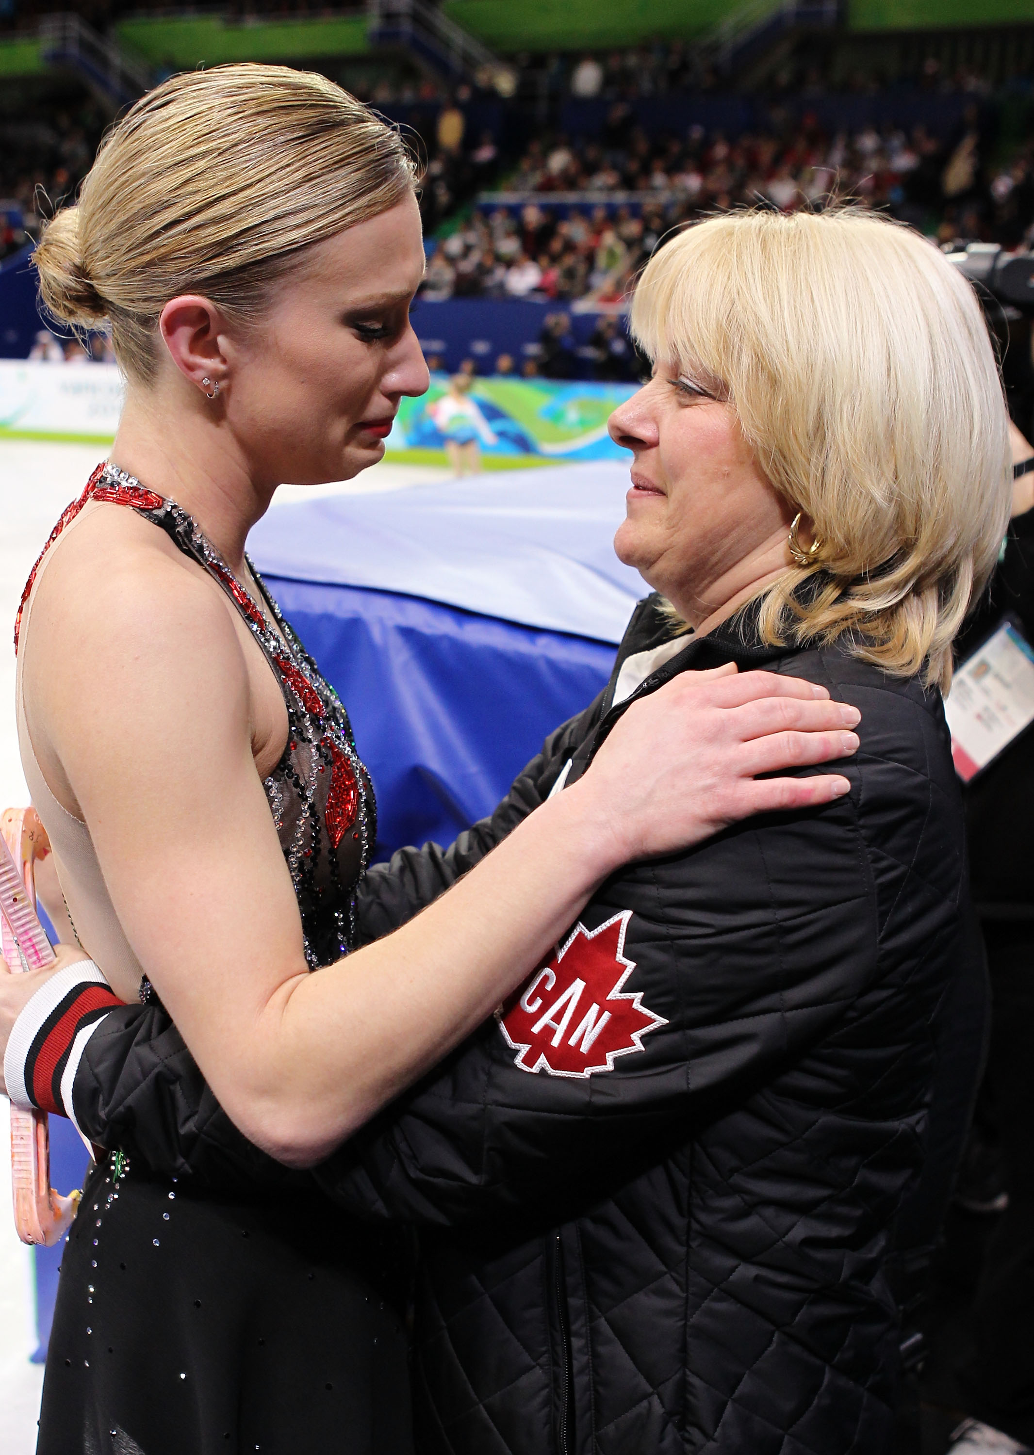
<svg viewBox="0 0 1034 1455"><path fill-rule="evenodd" d="M15 733L15 613L32 563L54 522L86 485L103 450L98 445L0 441L0 809L28 802ZM447 480L447 470L383 461L345 485L315 492L283 486L280 498L313 493L399 490ZM67 1189L61 1189L67 1192ZM32 1250L15 1237L10 1216L7 1113L0 1107L0 1452L31 1455L42 1368L36 1346Z"/></svg>

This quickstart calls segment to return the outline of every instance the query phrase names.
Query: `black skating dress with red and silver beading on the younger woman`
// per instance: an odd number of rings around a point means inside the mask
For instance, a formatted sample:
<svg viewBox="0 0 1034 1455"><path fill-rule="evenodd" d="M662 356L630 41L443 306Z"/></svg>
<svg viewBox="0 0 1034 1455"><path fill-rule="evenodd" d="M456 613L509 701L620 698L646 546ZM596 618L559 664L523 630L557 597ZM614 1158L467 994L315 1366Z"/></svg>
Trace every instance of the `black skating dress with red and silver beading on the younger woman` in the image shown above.
<svg viewBox="0 0 1034 1455"><path fill-rule="evenodd" d="M268 595L264 611L194 521L131 476L99 469L51 543L92 501L166 531L218 581L265 653L290 725L265 780L269 810L309 965L339 959L376 831L341 703ZM26 610L23 636L28 621ZM131 749L118 723L112 745ZM22 749L47 824L57 809L26 733ZM198 805L200 832L210 812ZM70 909L89 949L82 921L96 906L80 895ZM95 1049L119 1014L99 1024ZM205 1135L204 1125L181 1131ZM38 1455L409 1455L403 1250L351 1222L307 1174L255 1158L230 1193L173 1183L117 1148L90 1168L64 1248Z"/></svg>

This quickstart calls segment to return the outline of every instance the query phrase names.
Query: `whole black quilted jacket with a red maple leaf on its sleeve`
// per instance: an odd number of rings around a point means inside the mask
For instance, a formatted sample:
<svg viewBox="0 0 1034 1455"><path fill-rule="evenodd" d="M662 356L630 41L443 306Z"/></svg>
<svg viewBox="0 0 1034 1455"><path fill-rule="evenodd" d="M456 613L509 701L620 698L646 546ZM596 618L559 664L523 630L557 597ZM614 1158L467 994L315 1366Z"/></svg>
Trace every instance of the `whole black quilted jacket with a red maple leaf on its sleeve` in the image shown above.
<svg viewBox="0 0 1034 1455"><path fill-rule="evenodd" d="M619 662L661 637L651 598ZM851 794L613 876L520 998L316 1173L352 1213L421 1225L434 1455L888 1449L891 1283L929 1251L983 1018L948 733L935 691L749 623L639 691L730 659L861 709ZM568 760L577 778L612 693L491 821L374 870L364 931L434 898ZM163 1170L262 1176L160 1011L108 1017L74 1103Z"/></svg>

